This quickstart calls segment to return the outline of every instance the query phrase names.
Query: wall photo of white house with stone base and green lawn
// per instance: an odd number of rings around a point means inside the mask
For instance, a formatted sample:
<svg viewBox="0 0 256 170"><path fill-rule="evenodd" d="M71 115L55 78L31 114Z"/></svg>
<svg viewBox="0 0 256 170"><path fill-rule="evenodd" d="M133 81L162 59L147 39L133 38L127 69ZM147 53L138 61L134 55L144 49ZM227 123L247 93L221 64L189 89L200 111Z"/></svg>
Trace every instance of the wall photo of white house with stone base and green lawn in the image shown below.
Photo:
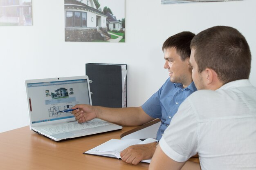
<svg viewBox="0 0 256 170"><path fill-rule="evenodd" d="M125 42L125 0L64 0L66 42Z"/></svg>

